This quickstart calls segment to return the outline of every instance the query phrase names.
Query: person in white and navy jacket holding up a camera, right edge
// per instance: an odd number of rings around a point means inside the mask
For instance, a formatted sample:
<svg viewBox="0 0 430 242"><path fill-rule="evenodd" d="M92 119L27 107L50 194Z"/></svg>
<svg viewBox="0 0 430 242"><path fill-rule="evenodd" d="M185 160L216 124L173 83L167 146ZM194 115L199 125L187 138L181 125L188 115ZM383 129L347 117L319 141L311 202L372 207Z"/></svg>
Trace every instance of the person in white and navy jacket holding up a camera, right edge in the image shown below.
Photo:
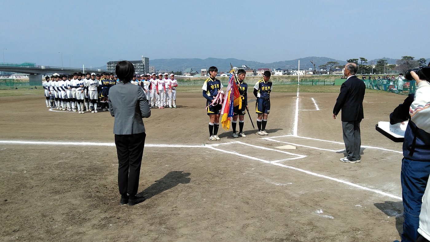
<svg viewBox="0 0 430 242"><path fill-rule="evenodd" d="M403 104L390 114L391 124L409 119L403 142L401 171L404 210L402 242L415 242L419 236L421 199L430 175L430 108L426 108L430 104L430 83L420 80L413 70L410 74L418 86L415 98L414 94L409 94ZM430 234L430 214L424 215L427 222L423 230Z"/></svg>

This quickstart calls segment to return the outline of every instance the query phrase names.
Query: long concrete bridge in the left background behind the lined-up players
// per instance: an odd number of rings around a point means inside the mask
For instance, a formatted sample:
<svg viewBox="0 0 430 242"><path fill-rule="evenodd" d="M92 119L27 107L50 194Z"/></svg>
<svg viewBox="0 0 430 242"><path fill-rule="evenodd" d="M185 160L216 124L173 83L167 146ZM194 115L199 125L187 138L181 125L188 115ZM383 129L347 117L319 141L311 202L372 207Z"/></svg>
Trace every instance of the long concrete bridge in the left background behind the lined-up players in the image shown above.
<svg viewBox="0 0 430 242"><path fill-rule="evenodd" d="M75 72L94 72L95 74L101 74L107 72L107 70L102 69L91 69L91 68L71 68L71 67L50 67L41 65L21 65L21 64L10 64L10 63L0 63L0 71L15 72L15 73L25 73L29 75L29 81L38 82L42 81L42 75L46 74L73 74Z"/></svg>

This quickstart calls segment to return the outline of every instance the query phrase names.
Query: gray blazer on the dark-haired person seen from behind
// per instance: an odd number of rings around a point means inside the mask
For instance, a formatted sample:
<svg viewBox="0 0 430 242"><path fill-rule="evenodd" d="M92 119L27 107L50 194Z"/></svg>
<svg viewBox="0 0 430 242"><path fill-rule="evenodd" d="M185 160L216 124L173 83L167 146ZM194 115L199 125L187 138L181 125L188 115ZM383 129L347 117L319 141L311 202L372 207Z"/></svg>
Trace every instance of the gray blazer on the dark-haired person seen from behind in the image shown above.
<svg viewBox="0 0 430 242"><path fill-rule="evenodd" d="M108 101L111 115L115 117L115 135L145 132L142 118L151 116L151 109L140 86L118 83L109 89Z"/></svg>

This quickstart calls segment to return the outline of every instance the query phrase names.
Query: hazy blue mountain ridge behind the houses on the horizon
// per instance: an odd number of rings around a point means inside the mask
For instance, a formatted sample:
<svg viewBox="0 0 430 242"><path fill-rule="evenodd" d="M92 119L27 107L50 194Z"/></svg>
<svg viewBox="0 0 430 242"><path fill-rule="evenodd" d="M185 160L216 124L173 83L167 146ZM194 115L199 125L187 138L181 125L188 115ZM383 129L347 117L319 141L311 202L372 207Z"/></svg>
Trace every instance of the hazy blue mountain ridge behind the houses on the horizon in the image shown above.
<svg viewBox="0 0 430 242"><path fill-rule="evenodd" d="M246 61L246 60L238 60L235 58L228 59L220 59L220 58L206 58L206 59L198 59L198 58L184 58L184 59L154 59L149 60L150 66L155 66L156 70L182 70L185 68L193 68L193 70L197 70L200 72L200 69L207 69L211 66L218 67L220 71L230 70L230 63L233 66L240 67L242 65L247 65L251 68L282 68L282 69L294 69L298 67L298 61L300 60L300 69L304 68L313 68L313 64L310 61L315 61L316 67L322 64L326 64L328 61L338 61L340 64L345 64L346 61L336 60L333 58L327 57L306 57L299 58L291 61L277 61L272 63L262 63L257 61Z"/></svg>

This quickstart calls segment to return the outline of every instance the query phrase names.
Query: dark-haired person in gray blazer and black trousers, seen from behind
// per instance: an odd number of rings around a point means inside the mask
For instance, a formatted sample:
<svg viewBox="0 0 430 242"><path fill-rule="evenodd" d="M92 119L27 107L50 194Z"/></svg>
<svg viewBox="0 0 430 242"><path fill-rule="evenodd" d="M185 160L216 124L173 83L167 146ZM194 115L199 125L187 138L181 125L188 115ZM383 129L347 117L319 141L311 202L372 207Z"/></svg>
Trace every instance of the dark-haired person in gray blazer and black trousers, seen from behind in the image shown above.
<svg viewBox="0 0 430 242"><path fill-rule="evenodd" d="M115 72L120 81L109 89L108 102L111 115L115 117L120 204L132 206L145 200L136 194L146 137L142 118L151 116L151 110L143 89L130 83L135 73L133 64L120 61Z"/></svg>

